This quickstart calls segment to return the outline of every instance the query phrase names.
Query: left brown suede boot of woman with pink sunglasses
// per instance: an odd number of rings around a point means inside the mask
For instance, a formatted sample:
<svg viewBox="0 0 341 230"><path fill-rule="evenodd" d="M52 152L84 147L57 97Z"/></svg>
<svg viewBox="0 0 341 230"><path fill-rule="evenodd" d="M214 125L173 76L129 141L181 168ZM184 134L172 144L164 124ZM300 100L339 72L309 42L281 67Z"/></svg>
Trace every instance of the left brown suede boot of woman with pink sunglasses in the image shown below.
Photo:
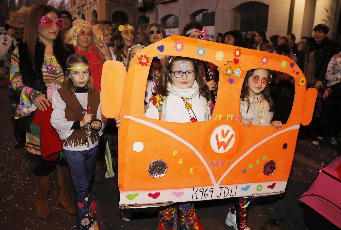
<svg viewBox="0 0 341 230"><path fill-rule="evenodd" d="M34 177L35 192L37 194L37 215L39 218L46 219L50 215L47 205L47 192L50 190L50 174L46 176Z"/></svg>

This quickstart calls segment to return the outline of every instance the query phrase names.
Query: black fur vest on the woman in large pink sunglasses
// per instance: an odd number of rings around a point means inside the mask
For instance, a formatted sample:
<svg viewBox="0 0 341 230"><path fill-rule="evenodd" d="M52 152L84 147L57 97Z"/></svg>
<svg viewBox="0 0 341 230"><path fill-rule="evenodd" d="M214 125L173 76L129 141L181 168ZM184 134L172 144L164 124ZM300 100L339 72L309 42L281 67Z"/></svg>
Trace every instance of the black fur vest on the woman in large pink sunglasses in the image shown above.
<svg viewBox="0 0 341 230"><path fill-rule="evenodd" d="M62 45L62 41L58 38L53 44L53 55L56 57L63 73L66 73L66 60L69 56L75 53L75 47L72 44L66 44L69 51L65 50ZM37 41L35 47L35 60L31 62L28 55L27 44L24 42L18 43L19 52L19 71L23 77L24 85L31 87L39 92L47 95L47 87L44 83L42 66L44 63L45 45L42 42Z"/></svg>

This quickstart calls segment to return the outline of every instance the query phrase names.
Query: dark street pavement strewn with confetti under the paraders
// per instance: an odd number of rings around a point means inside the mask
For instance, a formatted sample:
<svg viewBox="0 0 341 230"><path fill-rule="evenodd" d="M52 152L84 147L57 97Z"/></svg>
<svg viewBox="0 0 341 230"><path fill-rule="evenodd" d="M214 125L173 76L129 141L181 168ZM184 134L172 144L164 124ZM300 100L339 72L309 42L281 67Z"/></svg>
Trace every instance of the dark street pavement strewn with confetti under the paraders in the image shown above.
<svg viewBox="0 0 341 230"><path fill-rule="evenodd" d="M48 195L50 216L36 216L36 196L33 168L37 156L24 148L14 149L13 126L10 119L10 102L3 85L0 68L0 229L8 230L59 230L76 229L76 215L70 215L58 205L57 173L51 173L52 185ZM310 186L318 172L339 155L337 147L312 145L312 140L303 135L297 140L295 156L288 179L286 192L281 197L260 198L251 203L248 227L251 230L303 230L308 229L303 218L303 205L298 198ZM101 157L100 157L101 159ZM104 161L99 161L104 178ZM102 184L93 185L93 195L100 230L155 230L157 214L135 212L131 221L120 218L117 174L104 178ZM197 215L205 230L233 230L225 225L225 218L233 199L199 201L195 203Z"/></svg>

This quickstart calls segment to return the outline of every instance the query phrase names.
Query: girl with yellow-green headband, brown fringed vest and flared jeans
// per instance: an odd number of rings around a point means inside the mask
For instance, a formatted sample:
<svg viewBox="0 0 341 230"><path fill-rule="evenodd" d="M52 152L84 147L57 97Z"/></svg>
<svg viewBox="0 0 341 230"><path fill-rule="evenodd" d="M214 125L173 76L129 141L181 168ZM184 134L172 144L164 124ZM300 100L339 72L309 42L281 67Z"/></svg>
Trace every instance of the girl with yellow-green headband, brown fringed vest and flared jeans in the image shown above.
<svg viewBox="0 0 341 230"><path fill-rule="evenodd" d="M96 229L91 179L98 143L107 119L101 113L100 91L93 87L86 57L71 55L66 66L68 71L63 86L52 97L51 125L63 142L64 155L75 185L77 226L79 229L82 226Z"/></svg>

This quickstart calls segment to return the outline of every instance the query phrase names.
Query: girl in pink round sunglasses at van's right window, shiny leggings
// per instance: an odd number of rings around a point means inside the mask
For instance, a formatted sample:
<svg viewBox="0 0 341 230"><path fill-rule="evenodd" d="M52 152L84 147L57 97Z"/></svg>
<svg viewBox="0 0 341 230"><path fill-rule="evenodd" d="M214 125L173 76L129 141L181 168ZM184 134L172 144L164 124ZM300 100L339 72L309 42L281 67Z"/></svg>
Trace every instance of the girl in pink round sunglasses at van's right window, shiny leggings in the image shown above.
<svg viewBox="0 0 341 230"><path fill-rule="evenodd" d="M268 90L270 78L270 71L266 69L253 69L246 73L240 95L241 122L246 128L251 124L274 126L276 130L282 127L281 121L271 121L275 106ZM236 198L225 224L235 230L250 230L246 226L250 202L251 197Z"/></svg>

